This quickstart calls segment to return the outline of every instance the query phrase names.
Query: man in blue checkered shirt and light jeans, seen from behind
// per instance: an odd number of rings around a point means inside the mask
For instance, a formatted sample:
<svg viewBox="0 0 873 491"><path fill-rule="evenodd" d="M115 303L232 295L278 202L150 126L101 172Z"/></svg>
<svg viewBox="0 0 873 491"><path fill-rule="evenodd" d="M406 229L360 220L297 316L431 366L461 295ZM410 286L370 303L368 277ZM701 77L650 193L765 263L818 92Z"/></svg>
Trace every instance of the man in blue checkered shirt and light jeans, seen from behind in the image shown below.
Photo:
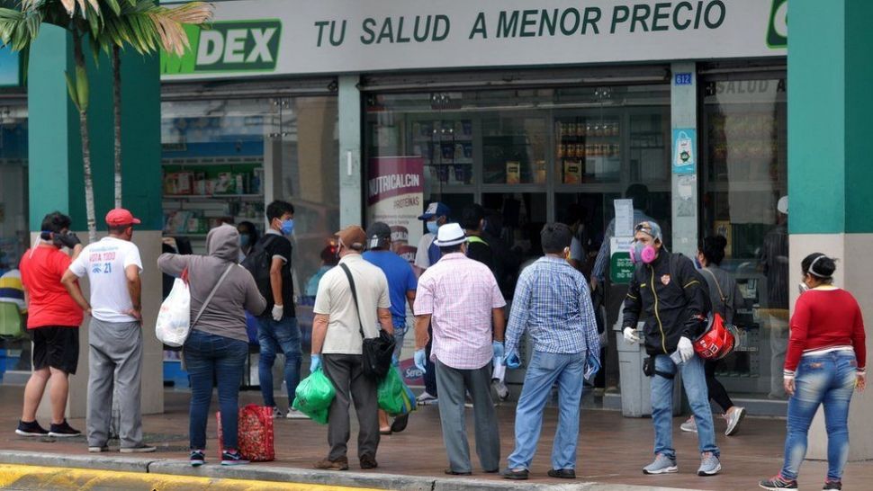
<svg viewBox="0 0 873 491"><path fill-rule="evenodd" d="M518 340L526 330L534 348L516 407L516 448L503 472L509 479L527 479L554 384L559 415L548 474L576 477L582 378L592 378L600 367L588 282L566 260L572 231L563 223L547 224L540 238L545 256L521 272L506 333L507 367L518 367Z"/></svg>

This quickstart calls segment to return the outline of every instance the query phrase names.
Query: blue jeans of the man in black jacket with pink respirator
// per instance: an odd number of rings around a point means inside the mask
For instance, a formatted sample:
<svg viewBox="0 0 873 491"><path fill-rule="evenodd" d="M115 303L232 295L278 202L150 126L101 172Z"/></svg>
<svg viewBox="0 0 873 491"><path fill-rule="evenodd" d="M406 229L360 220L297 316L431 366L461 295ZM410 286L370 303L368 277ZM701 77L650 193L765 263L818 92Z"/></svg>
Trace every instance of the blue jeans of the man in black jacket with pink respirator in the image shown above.
<svg viewBox="0 0 873 491"><path fill-rule="evenodd" d="M666 354L655 355L654 361L655 370L664 373L677 371L676 363ZM703 360L697 355L692 356L678 369L682 372L682 385L685 386L685 395L694 413L694 423L698 426L698 450L700 453L711 451L717 457L720 452L716 446L716 429L712 422ZM673 380L660 375L652 377L652 423L655 429L655 455L663 453L676 459L676 449L673 448Z"/></svg>

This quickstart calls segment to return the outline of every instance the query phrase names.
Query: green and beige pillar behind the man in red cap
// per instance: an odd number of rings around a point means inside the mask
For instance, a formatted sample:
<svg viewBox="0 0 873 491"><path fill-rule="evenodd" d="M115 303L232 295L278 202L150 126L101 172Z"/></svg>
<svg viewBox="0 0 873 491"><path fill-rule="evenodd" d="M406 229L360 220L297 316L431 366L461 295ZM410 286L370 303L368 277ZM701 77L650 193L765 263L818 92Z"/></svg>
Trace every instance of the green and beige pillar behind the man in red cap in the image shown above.
<svg viewBox="0 0 873 491"><path fill-rule="evenodd" d="M88 50L86 50L88 51ZM40 230L42 217L53 210L67 213L79 237L85 231L85 183L79 116L67 96L64 72L74 72L73 43L67 31L44 25L31 49L28 68L30 125L29 200L30 228ZM97 64L85 55L90 69L89 129L94 208L97 228L105 231L103 218L114 207L112 63L105 54ZM142 57L133 49L121 56L122 206L142 219L134 233L144 271L142 273L144 363L142 411L164 410L163 352L154 335L155 317L161 301L161 276L157 255L161 251L160 168L160 78L159 61ZM34 234L35 235L35 234ZM87 281L83 281L86 289ZM87 395L87 322L80 337L81 351L76 375L70 380L68 414L85 415ZM48 392L47 392L48 394ZM42 405L48 410L48 404ZM148 428L147 428L148 431Z"/></svg>

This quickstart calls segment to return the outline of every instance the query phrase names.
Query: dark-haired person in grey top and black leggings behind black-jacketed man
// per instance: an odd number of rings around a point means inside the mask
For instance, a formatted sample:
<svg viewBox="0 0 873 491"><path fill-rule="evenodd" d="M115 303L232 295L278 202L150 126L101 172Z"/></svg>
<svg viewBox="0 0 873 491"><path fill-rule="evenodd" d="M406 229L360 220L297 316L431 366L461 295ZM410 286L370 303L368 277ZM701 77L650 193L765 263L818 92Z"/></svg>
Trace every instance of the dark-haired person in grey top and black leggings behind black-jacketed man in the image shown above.
<svg viewBox="0 0 873 491"><path fill-rule="evenodd" d="M725 325L734 326L736 311L743 307L743 294L737 286L731 273L726 272L720 266L725 259L725 247L727 239L722 236L704 238L698 247L696 266L707 281L709 288L709 300L712 302L713 312L717 312ZM725 436L731 436L740 429L740 423L746 414L743 406L735 406L734 401L727 394L727 389L716 379L716 368L719 360L707 360L704 362L704 370L707 374L707 391L709 398L716 401L718 406L725 411L722 415L727 422ZM680 425L683 432L697 433L698 427L694 423L694 416Z"/></svg>

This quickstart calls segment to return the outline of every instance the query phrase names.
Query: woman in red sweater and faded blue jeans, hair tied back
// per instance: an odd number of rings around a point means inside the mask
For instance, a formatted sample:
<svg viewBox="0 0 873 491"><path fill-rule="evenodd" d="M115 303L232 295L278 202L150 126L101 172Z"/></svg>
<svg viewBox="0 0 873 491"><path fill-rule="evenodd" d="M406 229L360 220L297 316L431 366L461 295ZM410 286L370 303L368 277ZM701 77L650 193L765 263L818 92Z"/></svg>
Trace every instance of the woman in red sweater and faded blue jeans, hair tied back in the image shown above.
<svg viewBox="0 0 873 491"><path fill-rule="evenodd" d="M833 259L809 254L801 263L802 293L791 317L785 358L788 435L785 464L764 489L797 489L797 472L806 456L806 433L818 406L824 404L828 429L828 472L823 489L842 489L842 470L849 458L849 403L852 391L866 385L867 350L864 319L858 302L833 286Z"/></svg>

